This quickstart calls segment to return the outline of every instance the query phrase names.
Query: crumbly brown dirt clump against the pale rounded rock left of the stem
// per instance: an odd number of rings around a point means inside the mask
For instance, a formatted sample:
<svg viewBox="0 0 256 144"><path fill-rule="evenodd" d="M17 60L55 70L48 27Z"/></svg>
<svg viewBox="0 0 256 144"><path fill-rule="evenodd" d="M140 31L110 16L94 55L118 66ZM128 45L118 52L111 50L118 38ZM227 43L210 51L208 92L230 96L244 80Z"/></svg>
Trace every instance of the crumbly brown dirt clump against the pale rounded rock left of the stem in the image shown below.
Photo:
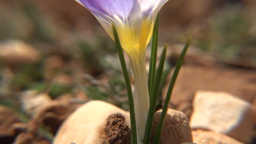
<svg viewBox="0 0 256 144"><path fill-rule="evenodd" d="M106 140L105 144L129 144L131 143L131 130L125 123L122 114L112 114L107 118L105 128Z"/></svg>

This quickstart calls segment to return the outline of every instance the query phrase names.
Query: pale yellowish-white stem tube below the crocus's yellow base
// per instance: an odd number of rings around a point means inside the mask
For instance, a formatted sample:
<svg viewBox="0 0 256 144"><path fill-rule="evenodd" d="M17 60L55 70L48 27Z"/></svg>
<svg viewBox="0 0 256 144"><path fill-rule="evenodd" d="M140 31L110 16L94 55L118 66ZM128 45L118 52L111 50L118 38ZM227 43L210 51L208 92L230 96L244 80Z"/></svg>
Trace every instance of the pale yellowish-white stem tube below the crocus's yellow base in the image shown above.
<svg viewBox="0 0 256 144"><path fill-rule="evenodd" d="M132 63L132 69L135 78L133 100L137 125L137 139L138 144L140 144L143 143L149 109L149 93L145 65L145 52L142 52L139 55L130 55L129 58Z"/></svg>

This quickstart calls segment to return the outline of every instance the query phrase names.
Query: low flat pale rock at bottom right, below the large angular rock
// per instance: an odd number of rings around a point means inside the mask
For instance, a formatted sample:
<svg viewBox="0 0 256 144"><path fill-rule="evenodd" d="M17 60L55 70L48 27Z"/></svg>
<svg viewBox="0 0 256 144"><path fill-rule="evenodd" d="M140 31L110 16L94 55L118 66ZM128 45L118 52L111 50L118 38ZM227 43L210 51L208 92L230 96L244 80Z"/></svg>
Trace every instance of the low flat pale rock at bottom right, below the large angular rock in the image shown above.
<svg viewBox="0 0 256 144"><path fill-rule="evenodd" d="M196 130L192 131L192 134L193 142L198 144L242 144L242 142L230 138L227 135L216 132Z"/></svg>

